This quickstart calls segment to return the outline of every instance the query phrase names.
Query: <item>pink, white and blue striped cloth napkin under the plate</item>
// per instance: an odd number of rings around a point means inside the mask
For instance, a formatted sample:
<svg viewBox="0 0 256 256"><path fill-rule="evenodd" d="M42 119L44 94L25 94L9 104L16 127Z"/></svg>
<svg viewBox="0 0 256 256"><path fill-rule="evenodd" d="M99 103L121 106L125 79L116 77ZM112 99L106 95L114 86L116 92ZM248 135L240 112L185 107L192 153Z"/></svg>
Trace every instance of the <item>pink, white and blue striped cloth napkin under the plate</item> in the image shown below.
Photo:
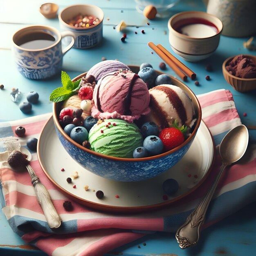
<svg viewBox="0 0 256 256"><path fill-rule="evenodd" d="M232 94L222 89L198 95L198 99L202 106L203 120L218 145L231 128L241 124ZM38 137L50 115L2 123L0 137L16 136L16 126L22 125L26 128L27 137L19 138L19 141L25 145L28 137ZM4 146L0 140L0 152L3 151ZM209 205L204 228L256 201L256 147L251 145L246 154L238 164L227 168ZM119 215L92 210L72 202L74 210L67 212L63 208L63 201L67 198L47 179L34 153L31 166L49 190L63 220L61 227L54 230L48 227L36 201L29 174L10 170L4 161L4 153L0 153L0 161L0 199L9 225L27 243L53 256L100 256L150 232L176 232L207 191L221 165L216 150L213 169L204 183L187 197L159 211Z"/></svg>

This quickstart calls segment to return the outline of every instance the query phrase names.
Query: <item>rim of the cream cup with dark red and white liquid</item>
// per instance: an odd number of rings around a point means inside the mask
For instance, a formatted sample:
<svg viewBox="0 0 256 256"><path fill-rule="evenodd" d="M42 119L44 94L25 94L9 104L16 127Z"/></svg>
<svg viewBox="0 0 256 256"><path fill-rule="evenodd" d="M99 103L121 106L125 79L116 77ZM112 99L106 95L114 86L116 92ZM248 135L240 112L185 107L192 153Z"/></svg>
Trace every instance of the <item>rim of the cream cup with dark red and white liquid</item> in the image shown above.
<svg viewBox="0 0 256 256"><path fill-rule="evenodd" d="M178 31L176 31L176 30L171 26L171 21L172 21L174 18L176 18L177 16L184 15L184 14L187 14L187 13L197 13L197 14L204 14L204 15L206 15L206 16L211 16L211 17L215 18L216 20L218 20L218 21L220 22L220 24L221 24L221 29L220 29L220 30L218 31L218 33L216 33L215 35L213 35L213 36L207 36L207 37L203 37L203 38L192 37L192 36L186 36L186 35L184 35L184 34L181 34L181 33L179 33ZM171 18L169 18L167 25L168 25L169 32L170 32L170 30L171 30L171 31L172 31L174 34L176 34L177 36L184 37L184 38L186 38L186 39L195 39L195 40L205 40L205 39L213 38L213 37L215 37L215 36L219 36L219 35L222 33L222 30L223 30L223 23L222 23L222 21L221 21L218 17L214 16L213 14L207 13L207 12L204 12L204 11L182 11L182 12L176 13L175 15L171 16Z"/></svg>

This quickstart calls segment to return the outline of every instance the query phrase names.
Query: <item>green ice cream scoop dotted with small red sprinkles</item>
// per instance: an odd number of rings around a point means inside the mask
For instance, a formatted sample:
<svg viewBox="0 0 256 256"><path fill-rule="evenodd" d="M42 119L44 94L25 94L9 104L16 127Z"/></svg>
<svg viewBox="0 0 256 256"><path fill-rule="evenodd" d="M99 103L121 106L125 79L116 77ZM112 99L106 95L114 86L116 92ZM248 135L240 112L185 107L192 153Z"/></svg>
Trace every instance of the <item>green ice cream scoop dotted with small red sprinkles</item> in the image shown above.
<svg viewBox="0 0 256 256"><path fill-rule="evenodd" d="M106 119L95 124L89 132L91 150L113 157L132 158L143 139L135 124L120 119Z"/></svg>

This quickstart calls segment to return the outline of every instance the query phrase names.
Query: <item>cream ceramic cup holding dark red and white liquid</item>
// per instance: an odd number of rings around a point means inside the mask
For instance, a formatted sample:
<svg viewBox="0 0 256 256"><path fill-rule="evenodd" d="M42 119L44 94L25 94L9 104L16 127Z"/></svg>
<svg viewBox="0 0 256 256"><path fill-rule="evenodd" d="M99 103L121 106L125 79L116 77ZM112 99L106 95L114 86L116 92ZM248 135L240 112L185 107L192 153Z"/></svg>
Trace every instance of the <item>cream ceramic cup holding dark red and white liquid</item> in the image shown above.
<svg viewBox="0 0 256 256"><path fill-rule="evenodd" d="M211 22L218 32L213 36L195 38L179 33L175 24L185 19L198 18ZM202 11L183 11L175 14L168 20L169 43L173 51L184 60L190 62L201 61L208 58L217 49L222 32L222 22L212 14Z"/></svg>

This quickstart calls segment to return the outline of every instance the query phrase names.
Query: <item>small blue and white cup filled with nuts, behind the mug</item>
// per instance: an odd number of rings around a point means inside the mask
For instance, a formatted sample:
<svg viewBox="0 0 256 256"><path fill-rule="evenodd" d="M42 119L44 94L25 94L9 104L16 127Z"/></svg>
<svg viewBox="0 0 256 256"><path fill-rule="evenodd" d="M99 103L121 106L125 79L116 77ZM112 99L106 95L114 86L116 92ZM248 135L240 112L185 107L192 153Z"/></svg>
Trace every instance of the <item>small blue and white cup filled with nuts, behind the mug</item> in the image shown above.
<svg viewBox="0 0 256 256"><path fill-rule="evenodd" d="M77 15L92 15L99 19L99 23L90 27L74 27L68 24ZM87 49L98 45L103 38L103 11L91 4L75 4L66 7L58 14L61 30L70 31L75 36L74 47Z"/></svg>

